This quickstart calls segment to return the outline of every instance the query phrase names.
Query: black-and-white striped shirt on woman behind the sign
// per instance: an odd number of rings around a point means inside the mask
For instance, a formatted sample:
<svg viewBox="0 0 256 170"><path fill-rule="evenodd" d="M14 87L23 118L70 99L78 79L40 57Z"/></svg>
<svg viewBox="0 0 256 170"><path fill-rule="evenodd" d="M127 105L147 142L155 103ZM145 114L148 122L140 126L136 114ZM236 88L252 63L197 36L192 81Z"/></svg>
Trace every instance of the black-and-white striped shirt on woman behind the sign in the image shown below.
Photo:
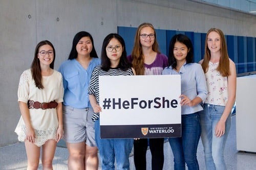
<svg viewBox="0 0 256 170"><path fill-rule="evenodd" d="M88 94L95 96L97 103L99 103L99 76L133 76L133 70L129 69L122 70L120 68L110 68L108 71L104 71L101 65L94 68L91 82L88 87ZM93 122L99 118L99 113L94 113L92 116Z"/></svg>

